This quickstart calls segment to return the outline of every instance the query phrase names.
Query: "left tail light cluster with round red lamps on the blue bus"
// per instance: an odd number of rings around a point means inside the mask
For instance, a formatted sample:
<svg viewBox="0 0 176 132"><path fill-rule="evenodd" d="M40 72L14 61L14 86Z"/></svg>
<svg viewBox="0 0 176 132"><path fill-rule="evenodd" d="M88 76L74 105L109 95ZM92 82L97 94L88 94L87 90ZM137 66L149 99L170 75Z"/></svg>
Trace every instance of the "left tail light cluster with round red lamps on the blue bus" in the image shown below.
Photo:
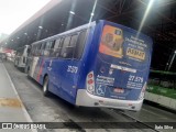
<svg viewBox="0 0 176 132"><path fill-rule="evenodd" d="M86 86L87 86L87 91L94 95L94 92L95 92L94 72L90 72L90 73L87 75Z"/></svg>

